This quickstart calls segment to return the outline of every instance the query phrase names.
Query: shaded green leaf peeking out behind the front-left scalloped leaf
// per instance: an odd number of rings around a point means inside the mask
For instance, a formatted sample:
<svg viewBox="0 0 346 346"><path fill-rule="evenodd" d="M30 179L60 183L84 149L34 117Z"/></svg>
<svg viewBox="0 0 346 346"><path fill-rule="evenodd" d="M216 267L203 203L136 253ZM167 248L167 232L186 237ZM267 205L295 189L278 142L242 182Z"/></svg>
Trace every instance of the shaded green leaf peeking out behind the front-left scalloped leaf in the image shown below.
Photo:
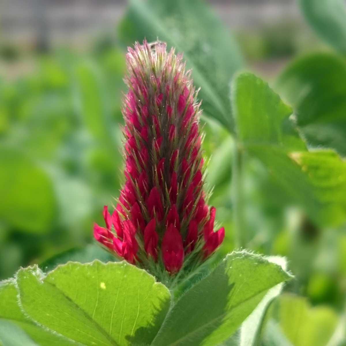
<svg viewBox="0 0 346 346"><path fill-rule="evenodd" d="M89 263L93 260L99 260L101 262L117 262L117 258L105 251L104 248L98 244L89 244L83 248L73 248L56 254L39 264L39 267L48 272L53 270L60 264L65 264L69 261L79 263Z"/></svg>

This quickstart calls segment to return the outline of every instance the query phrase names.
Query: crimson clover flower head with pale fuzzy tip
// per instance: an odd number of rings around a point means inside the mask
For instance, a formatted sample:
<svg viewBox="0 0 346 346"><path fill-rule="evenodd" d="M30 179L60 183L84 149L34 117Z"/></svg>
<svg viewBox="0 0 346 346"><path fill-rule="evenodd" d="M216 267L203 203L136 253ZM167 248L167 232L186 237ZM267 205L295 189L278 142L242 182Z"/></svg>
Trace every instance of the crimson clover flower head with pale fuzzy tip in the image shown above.
<svg viewBox="0 0 346 346"><path fill-rule="evenodd" d="M136 43L126 55L122 114L125 184L106 227L94 237L129 263L159 275L188 272L225 237L214 231L203 183L201 114L182 55L166 44Z"/></svg>

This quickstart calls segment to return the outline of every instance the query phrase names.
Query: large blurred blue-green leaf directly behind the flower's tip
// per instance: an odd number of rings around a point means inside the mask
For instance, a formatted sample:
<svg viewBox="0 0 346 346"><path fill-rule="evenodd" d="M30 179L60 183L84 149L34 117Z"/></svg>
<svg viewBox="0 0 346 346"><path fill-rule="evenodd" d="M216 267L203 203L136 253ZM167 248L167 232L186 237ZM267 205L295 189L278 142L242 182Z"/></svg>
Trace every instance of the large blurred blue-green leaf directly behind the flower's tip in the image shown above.
<svg viewBox="0 0 346 346"><path fill-rule="evenodd" d="M130 0L120 39L133 45L157 38L184 53L195 85L201 87L204 113L232 129L229 81L242 67L234 39L204 1Z"/></svg>

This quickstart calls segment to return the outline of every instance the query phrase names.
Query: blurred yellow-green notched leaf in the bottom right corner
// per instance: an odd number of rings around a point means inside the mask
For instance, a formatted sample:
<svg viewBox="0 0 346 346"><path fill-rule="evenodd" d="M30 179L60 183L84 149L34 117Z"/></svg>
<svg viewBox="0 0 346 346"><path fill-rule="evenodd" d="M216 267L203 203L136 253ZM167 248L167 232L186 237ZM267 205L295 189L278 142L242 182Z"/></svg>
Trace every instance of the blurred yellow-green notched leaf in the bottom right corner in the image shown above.
<svg viewBox="0 0 346 346"><path fill-rule="evenodd" d="M294 346L325 346L337 326L337 315L329 307L310 307L305 298L280 297L280 326Z"/></svg>

